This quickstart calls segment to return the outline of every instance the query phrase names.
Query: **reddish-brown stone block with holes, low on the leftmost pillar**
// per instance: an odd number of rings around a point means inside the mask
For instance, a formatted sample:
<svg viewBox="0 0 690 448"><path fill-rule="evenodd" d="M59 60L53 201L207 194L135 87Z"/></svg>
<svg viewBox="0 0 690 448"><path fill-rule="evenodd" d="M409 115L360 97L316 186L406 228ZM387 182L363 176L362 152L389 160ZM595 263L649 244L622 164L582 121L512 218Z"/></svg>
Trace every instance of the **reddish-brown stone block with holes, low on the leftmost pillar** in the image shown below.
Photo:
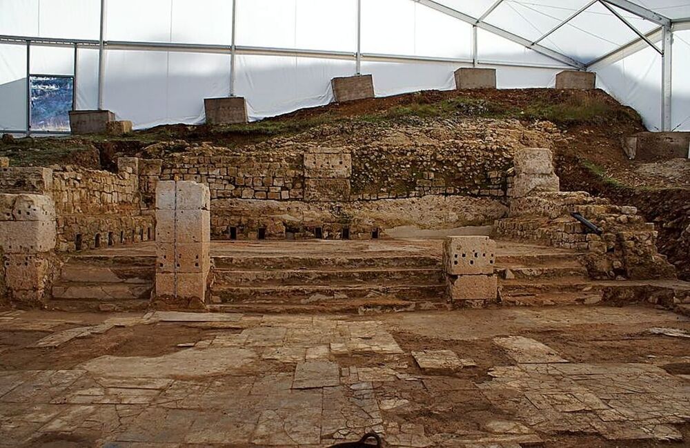
<svg viewBox="0 0 690 448"><path fill-rule="evenodd" d="M6 285L12 291L42 291L47 286L50 260L41 254L6 254Z"/></svg>

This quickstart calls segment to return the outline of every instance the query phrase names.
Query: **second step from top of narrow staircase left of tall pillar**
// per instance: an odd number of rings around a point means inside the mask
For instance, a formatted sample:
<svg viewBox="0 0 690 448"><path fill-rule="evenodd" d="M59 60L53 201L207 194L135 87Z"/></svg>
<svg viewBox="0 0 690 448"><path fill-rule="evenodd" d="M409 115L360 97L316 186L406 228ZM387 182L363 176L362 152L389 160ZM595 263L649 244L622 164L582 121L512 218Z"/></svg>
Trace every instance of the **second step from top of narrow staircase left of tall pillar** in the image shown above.
<svg viewBox="0 0 690 448"><path fill-rule="evenodd" d="M91 266L68 263L62 266L58 282L151 284L154 278L154 266Z"/></svg>

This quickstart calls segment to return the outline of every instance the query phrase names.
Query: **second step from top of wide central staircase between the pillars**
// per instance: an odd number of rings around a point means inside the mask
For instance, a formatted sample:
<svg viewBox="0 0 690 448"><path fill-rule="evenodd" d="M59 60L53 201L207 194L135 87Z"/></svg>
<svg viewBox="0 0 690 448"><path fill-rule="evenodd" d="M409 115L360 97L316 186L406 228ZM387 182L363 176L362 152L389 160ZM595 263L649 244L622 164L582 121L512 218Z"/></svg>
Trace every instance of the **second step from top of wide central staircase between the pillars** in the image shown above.
<svg viewBox="0 0 690 448"><path fill-rule="evenodd" d="M215 269L215 284L222 286L297 286L339 284L441 284L445 281L443 269L349 269L343 270L279 270L234 271Z"/></svg>

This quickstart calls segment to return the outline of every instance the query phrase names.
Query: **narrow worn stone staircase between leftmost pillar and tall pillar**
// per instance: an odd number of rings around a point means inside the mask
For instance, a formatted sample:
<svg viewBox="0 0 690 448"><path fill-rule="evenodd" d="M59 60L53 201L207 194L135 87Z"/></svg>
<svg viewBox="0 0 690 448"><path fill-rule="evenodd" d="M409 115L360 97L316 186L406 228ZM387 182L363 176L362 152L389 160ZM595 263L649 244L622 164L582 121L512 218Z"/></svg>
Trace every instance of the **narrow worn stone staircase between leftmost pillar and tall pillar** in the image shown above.
<svg viewBox="0 0 690 448"><path fill-rule="evenodd" d="M60 311L146 309L154 278L155 257L70 257L52 286L48 307Z"/></svg>

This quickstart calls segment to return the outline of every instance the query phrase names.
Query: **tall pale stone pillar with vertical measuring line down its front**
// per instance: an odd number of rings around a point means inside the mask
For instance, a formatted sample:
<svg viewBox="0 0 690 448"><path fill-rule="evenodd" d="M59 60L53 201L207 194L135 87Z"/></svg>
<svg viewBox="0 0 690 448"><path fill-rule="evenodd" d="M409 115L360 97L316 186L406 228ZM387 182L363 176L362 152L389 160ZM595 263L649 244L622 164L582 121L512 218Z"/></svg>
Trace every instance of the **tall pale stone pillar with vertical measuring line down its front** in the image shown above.
<svg viewBox="0 0 690 448"><path fill-rule="evenodd" d="M156 188L155 305L203 309L210 271L210 193L192 181Z"/></svg>

